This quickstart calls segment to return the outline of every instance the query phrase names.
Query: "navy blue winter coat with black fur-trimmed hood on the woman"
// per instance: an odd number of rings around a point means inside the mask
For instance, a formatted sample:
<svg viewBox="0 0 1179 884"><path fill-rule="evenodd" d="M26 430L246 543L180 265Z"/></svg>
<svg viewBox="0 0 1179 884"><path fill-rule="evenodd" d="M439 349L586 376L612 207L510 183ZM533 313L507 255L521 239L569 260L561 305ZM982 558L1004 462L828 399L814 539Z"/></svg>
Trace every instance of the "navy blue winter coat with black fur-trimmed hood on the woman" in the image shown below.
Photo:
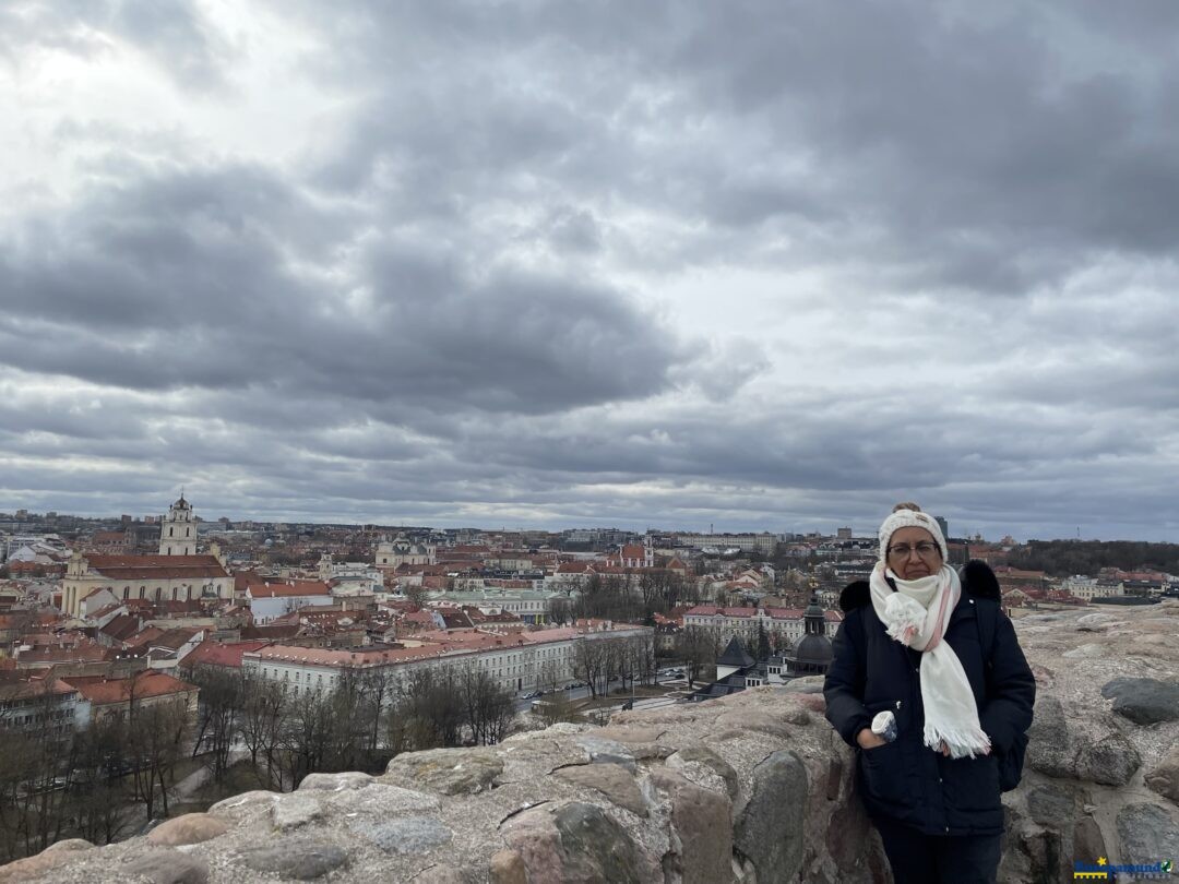
<svg viewBox="0 0 1179 884"><path fill-rule="evenodd" d="M997 609L999 583L990 568L970 562L963 570L962 591L943 640L954 648L974 688L982 730L993 747L1006 750L1032 724L1035 678L1012 621ZM839 605L845 616L835 636L835 659L823 685L826 719L856 748L857 784L869 816L927 834L1002 832L995 753L950 759L927 747L922 739L921 652L904 647L884 632L867 581L848 586ZM980 647L980 616L993 618L994 624L989 673ZM883 710L896 714L897 739L861 750L856 734Z"/></svg>

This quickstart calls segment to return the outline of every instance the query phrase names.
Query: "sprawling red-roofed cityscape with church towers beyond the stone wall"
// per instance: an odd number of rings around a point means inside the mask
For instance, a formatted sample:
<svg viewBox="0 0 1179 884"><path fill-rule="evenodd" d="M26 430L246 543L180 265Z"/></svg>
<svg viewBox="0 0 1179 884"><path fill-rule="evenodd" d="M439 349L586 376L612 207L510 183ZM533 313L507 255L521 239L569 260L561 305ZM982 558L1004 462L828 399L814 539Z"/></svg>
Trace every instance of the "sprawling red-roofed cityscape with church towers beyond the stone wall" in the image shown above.
<svg viewBox="0 0 1179 884"><path fill-rule="evenodd" d="M1016 624L1179 603L1179 546L938 521ZM145 516L0 513L0 859L423 751L788 688L826 672L841 592L878 543L235 522L184 494Z"/></svg>

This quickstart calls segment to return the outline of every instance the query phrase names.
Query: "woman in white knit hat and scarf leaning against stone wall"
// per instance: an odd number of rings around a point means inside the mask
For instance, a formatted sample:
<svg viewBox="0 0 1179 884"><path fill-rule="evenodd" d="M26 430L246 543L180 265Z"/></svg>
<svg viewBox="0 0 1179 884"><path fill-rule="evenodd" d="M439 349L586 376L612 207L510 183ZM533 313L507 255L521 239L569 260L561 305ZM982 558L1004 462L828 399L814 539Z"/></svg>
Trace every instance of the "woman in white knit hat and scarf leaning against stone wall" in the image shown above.
<svg viewBox="0 0 1179 884"><path fill-rule="evenodd" d="M898 503L871 580L839 596L823 687L828 720L857 750L859 794L897 884L995 880L996 756L1020 743L1035 700L990 568L970 562L960 582L946 559L937 521Z"/></svg>

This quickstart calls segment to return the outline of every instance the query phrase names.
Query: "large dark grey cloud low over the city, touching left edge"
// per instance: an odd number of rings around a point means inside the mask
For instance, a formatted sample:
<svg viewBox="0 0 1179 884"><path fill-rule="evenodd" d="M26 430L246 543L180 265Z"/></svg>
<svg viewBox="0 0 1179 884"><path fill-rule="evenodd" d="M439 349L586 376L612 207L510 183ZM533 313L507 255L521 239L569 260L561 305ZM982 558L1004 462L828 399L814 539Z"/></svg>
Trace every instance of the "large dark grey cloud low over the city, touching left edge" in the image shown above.
<svg viewBox="0 0 1179 884"><path fill-rule="evenodd" d="M138 178L32 224L0 255L0 359L26 371L535 413L658 392L681 359L608 283L360 242L259 170Z"/></svg>

